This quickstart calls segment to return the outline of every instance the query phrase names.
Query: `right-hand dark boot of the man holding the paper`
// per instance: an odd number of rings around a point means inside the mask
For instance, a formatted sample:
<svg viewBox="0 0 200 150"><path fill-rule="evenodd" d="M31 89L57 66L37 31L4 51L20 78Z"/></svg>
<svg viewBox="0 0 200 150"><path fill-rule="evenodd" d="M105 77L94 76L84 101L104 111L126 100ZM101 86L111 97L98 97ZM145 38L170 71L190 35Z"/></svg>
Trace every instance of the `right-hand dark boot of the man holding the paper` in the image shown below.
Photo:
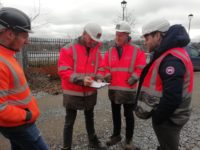
<svg viewBox="0 0 200 150"><path fill-rule="evenodd" d="M96 135L89 137L89 148L97 149L97 150L106 150L106 147L102 146Z"/></svg>

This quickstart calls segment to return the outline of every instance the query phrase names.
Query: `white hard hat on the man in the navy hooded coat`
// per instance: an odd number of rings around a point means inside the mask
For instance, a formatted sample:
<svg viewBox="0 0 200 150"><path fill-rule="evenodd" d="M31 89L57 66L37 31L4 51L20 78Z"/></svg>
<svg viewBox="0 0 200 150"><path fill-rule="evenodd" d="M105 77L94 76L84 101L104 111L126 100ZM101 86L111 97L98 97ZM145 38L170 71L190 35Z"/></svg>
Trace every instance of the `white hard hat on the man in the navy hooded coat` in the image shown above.
<svg viewBox="0 0 200 150"><path fill-rule="evenodd" d="M142 35L152 33L154 31L166 32L170 27L169 21L164 18L152 20L142 27Z"/></svg>

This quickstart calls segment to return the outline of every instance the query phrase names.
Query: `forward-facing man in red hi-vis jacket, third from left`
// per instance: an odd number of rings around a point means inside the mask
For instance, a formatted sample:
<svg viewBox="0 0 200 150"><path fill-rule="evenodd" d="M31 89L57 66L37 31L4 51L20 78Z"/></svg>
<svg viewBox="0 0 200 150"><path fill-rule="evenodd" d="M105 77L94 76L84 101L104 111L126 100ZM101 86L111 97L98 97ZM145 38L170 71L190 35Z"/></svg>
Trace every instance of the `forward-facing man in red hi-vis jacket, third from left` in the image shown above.
<svg viewBox="0 0 200 150"><path fill-rule="evenodd" d="M146 64L144 52L131 45L131 27L121 21L116 25L115 46L105 54L105 80L110 82L109 98L111 100L113 133L106 142L112 146L121 141L121 105L126 120L125 150L136 149L133 145L135 95L137 81Z"/></svg>

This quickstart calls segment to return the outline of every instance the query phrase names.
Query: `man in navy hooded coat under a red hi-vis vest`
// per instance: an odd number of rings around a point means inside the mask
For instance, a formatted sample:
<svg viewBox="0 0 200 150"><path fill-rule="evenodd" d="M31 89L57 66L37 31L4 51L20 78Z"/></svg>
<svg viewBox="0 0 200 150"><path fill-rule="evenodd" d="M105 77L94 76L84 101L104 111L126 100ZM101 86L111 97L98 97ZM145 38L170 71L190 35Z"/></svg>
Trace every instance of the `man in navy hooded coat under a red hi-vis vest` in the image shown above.
<svg viewBox="0 0 200 150"><path fill-rule="evenodd" d="M159 150L178 150L193 89L193 67L183 48L190 39L182 25L170 26L163 18L145 24L142 32L144 45L154 54L141 74L136 114L152 117Z"/></svg>

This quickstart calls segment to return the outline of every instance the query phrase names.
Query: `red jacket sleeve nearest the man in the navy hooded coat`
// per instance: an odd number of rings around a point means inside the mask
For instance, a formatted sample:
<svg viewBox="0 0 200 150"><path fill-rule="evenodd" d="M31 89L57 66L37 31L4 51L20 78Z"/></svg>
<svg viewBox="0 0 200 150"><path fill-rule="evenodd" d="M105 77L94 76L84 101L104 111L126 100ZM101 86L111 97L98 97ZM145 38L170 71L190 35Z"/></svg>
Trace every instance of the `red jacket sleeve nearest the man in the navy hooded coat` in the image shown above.
<svg viewBox="0 0 200 150"><path fill-rule="evenodd" d="M131 77L138 80L140 77L140 74L145 66L146 66L145 53L144 53L144 51L142 51L138 48L135 65L134 65L134 71L133 71L133 74L131 75Z"/></svg>

